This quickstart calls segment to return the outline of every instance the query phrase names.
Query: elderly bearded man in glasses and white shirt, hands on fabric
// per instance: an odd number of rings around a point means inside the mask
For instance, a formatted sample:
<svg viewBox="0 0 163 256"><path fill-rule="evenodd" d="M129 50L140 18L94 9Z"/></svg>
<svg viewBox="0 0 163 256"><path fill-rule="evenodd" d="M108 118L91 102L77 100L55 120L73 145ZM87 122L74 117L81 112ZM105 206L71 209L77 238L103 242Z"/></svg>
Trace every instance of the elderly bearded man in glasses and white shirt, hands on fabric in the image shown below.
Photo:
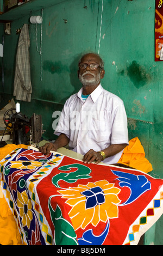
<svg viewBox="0 0 163 256"><path fill-rule="evenodd" d="M128 145L127 116L123 101L101 86L104 64L95 53L79 62L78 77L83 87L65 103L54 143L40 148L43 154L69 148L83 154L84 163L117 163Z"/></svg>

